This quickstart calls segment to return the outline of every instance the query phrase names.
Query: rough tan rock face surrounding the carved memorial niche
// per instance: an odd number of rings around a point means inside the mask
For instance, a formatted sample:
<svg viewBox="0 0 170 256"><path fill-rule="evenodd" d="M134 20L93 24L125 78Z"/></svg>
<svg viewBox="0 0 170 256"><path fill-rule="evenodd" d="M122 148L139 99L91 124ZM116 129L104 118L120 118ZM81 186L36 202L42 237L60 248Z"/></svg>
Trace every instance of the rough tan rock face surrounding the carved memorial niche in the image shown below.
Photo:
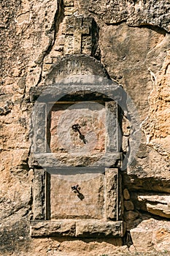
<svg viewBox="0 0 170 256"><path fill-rule="evenodd" d="M131 244L137 252L170 251L169 11L169 0L1 3L0 255L127 255ZM29 165L34 105L29 90L43 86L52 65L73 53L101 61L109 78L123 86L128 101L134 102L139 113L141 138L137 149L127 118L128 114L133 117L134 110L124 113L121 128L123 156L133 156L127 169L121 170L120 215L127 227L124 239L30 236L30 220L35 218L36 208L33 201L37 197L41 205L45 200L45 184L44 172L37 180ZM107 187L110 195L114 194L116 188L111 183ZM103 195L102 189L100 193ZM101 198L98 200L101 203ZM42 215L36 212L36 216ZM82 226L81 234L87 223ZM108 230L116 236L117 230L111 227ZM91 230L95 228L90 226ZM104 236L108 230L107 224L101 225Z"/></svg>

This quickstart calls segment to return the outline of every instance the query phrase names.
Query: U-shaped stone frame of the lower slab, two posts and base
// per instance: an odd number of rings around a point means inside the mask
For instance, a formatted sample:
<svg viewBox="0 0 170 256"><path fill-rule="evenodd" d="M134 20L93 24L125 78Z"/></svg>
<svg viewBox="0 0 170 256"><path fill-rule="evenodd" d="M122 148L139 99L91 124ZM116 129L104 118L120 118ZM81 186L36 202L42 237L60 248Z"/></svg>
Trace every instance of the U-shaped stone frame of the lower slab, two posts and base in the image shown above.
<svg viewBox="0 0 170 256"><path fill-rule="evenodd" d="M123 237L125 234L125 223L119 219L119 203L121 200L121 176L117 168L106 168L107 176L116 180L115 184L115 208L116 217L112 220L112 195L105 195L107 200L106 219L56 219L50 220L49 202L50 200L50 174L43 169L34 169L34 220L31 221L31 236L73 236L73 237ZM107 179L108 181L108 179ZM112 194L112 184L107 182L109 193ZM107 190L107 189L106 189Z"/></svg>

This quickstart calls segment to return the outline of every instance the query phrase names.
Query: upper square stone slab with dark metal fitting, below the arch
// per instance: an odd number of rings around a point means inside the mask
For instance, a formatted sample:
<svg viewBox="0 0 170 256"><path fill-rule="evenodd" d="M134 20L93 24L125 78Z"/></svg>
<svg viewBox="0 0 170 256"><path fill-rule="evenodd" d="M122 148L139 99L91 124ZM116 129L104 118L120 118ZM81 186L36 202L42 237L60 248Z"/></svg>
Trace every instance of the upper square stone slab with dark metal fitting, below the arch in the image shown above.
<svg viewBox="0 0 170 256"><path fill-rule="evenodd" d="M51 151L79 154L104 152L105 116L104 104L98 102L68 102L53 105L49 119ZM72 129L73 125L79 125L79 132Z"/></svg>

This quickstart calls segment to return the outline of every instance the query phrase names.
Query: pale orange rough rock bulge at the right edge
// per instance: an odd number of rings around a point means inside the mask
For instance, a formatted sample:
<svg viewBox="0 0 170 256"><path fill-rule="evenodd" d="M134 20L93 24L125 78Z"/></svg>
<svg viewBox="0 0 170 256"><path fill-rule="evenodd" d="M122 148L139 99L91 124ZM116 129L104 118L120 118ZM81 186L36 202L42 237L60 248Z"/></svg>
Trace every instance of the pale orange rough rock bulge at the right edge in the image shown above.
<svg viewBox="0 0 170 256"><path fill-rule="evenodd" d="M164 172L169 168L169 110L166 109L169 102L169 62L170 51L163 61L161 71L153 81L155 87L150 94L150 111L142 124L147 144L152 146L167 163ZM159 108L155 110L155 105Z"/></svg>

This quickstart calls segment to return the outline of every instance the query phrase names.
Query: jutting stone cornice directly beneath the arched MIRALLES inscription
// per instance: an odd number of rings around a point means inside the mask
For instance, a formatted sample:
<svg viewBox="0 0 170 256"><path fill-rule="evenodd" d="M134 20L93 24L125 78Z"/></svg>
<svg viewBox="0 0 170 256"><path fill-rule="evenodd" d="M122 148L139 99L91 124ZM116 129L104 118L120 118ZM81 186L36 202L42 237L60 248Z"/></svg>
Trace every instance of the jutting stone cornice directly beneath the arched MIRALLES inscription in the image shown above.
<svg viewBox="0 0 170 256"><path fill-rule="evenodd" d="M70 81L69 78L63 78L54 82L51 86L31 87L31 102L58 102L66 97L66 100L103 100L111 99L125 108L125 91L115 82L110 82L106 78L96 76L85 76L84 80Z"/></svg>

